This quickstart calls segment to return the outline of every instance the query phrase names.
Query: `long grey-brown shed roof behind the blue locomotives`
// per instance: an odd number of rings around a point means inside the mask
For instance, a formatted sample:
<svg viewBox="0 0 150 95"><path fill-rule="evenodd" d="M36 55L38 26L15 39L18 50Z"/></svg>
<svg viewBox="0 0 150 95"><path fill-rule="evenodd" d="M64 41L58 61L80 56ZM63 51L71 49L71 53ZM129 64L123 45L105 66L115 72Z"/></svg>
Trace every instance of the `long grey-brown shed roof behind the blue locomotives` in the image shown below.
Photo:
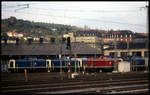
<svg viewBox="0 0 150 95"><path fill-rule="evenodd" d="M101 53L100 50L92 48L85 43L71 43L72 54L95 54ZM60 54L61 44L32 43L32 44L1 44L1 55L58 55ZM62 54L70 54L66 49L66 44L62 44Z"/></svg>

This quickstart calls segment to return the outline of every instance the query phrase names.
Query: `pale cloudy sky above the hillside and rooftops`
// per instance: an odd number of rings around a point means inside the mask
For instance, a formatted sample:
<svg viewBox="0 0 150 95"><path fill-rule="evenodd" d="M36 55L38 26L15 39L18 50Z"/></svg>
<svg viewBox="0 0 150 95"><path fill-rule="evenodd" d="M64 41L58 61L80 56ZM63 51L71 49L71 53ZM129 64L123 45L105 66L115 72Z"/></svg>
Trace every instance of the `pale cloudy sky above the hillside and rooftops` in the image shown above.
<svg viewBox="0 0 150 95"><path fill-rule="evenodd" d="M14 16L34 22L147 33L148 14L145 5L148 5L148 1L3 1L1 19Z"/></svg>

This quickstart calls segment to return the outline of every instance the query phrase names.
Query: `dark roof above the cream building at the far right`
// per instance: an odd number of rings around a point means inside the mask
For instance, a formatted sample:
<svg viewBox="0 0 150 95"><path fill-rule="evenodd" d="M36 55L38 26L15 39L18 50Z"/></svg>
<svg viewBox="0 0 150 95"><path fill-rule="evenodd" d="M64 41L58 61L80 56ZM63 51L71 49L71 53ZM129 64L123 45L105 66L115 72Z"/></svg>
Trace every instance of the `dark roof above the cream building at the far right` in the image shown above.
<svg viewBox="0 0 150 95"><path fill-rule="evenodd" d="M147 45L148 46L148 45ZM144 49L146 48L146 43L129 43L129 49ZM114 46L107 48L105 50L113 50ZM127 43L121 42L117 44L117 49L127 49Z"/></svg>

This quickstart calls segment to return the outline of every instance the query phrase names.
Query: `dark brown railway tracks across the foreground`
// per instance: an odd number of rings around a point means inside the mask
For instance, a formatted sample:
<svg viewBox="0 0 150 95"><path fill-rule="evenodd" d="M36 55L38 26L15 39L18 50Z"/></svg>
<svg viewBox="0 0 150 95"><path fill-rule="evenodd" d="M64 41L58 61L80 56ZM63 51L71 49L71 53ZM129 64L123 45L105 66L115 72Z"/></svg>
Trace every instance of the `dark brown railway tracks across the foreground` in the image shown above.
<svg viewBox="0 0 150 95"><path fill-rule="evenodd" d="M47 74L45 74L47 75ZM66 76L66 75L65 75ZM64 78L66 78L63 76ZM43 76L44 77L44 76ZM51 76L58 77L57 75ZM102 78L103 77L103 78ZM49 77L50 78L50 77ZM49 79L48 78L48 79ZM60 76L59 76L60 78ZM34 79L34 78L33 78ZM42 79L42 77L40 78ZM148 93L148 73L124 73L124 74L89 74L79 75L74 79L44 81L9 81L1 87L3 94L7 93L32 93L32 94L70 94L70 93L94 93L94 94L117 94L117 93ZM104 80L105 79L105 80Z"/></svg>

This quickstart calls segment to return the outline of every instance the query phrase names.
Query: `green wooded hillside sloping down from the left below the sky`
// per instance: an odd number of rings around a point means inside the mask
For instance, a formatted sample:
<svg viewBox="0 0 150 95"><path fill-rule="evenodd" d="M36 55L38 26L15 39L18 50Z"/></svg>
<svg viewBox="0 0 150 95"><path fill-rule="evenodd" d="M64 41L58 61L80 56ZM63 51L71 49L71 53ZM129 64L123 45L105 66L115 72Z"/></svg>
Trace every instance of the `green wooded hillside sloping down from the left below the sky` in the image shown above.
<svg viewBox="0 0 150 95"><path fill-rule="evenodd" d="M37 37L52 36L58 37L59 39L61 34L74 30L79 30L79 28L70 25L25 21L22 19L16 19L15 17L2 19L1 22L1 36L4 36L6 32L15 31L17 33L26 33Z"/></svg>

